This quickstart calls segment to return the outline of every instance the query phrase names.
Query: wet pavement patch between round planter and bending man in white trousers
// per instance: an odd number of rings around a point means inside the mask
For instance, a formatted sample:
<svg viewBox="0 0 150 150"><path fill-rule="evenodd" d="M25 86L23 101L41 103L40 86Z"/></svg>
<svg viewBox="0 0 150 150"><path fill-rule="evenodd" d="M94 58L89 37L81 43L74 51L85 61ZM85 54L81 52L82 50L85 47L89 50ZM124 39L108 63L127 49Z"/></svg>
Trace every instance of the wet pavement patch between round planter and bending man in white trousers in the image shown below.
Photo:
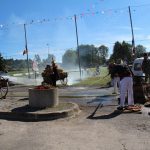
<svg viewBox="0 0 150 150"><path fill-rule="evenodd" d="M112 91L112 88L67 87L59 90L59 96L82 106L97 106L99 103L117 105L118 95L111 94Z"/></svg>

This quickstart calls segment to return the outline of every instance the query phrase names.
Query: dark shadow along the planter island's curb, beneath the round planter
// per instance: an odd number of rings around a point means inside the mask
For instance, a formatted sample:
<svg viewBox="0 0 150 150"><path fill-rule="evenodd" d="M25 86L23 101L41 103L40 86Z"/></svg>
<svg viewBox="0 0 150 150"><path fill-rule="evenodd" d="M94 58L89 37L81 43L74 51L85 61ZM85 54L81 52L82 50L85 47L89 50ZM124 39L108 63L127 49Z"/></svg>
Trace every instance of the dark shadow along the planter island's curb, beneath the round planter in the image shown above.
<svg viewBox="0 0 150 150"><path fill-rule="evenodd" d="M11 112L0 112L0 119L9 121L22 121L22 122L38 122L38 121L51 121L59 118L65 118L69 116L68 112L45 112L40 113L44 108L34 108L29 105L17 107L11 110Z"/></svg>

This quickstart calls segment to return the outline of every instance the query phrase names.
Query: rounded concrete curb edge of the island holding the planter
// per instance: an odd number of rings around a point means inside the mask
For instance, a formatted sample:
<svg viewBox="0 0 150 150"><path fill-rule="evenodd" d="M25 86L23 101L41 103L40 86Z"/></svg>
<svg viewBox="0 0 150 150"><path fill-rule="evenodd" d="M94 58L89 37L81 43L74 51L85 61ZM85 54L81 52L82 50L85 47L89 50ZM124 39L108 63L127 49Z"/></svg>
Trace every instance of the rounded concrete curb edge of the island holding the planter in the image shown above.
<svg viewBox="0 0 150 150"><path fill-rule="evenodd" d="M48 121L66 117L75 117L81 110L76 103L70 109L55 112L4 112L0 111L0 119L17 121Z"/></svg>

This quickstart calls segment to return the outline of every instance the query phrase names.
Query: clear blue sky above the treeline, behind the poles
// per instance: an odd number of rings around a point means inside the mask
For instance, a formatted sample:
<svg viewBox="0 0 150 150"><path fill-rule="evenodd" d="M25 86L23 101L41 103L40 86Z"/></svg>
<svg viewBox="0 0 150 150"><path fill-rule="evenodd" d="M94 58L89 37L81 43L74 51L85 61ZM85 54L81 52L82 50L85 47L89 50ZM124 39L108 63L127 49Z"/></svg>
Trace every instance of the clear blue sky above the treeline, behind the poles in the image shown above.
<svg viewBox="0 0 150 150"><path fill-rule="evenodd" d="M61 57L76 48L74 14L79 44L102 44L112 53L113 43L131 43L128 6L131 7L135 44L150 51L149 0L0 0L0 52L4 58L26 59L26 23L29 58L49 53Z"/></svg>

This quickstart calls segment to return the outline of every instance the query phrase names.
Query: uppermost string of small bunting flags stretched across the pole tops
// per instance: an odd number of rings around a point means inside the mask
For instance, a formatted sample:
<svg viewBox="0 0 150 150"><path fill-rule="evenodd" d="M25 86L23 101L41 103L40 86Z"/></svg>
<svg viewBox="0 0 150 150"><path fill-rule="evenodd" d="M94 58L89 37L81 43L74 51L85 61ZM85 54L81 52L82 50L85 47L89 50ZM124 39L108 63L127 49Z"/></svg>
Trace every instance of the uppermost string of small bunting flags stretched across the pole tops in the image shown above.
<svg viewBox="0 0 150 150"><path fill-rule="evenodd" d="M104 0L99 0L99 1L104 1ZM149 4L150 5L150 4ZM147 5L141 5L142 6L147 6ZM132 7L140 7L139 6L132 6ZM82 19L83 17L86 16L94 16L94 15L104 15L104 14L110 14L112 15L117 14L117 13L125 13L128 12L128 7L124 7L124 8L119 8L119 9L107 9L107 10L100 10L100 11L94 11L93 8L95 8L95 4L92 5L91 9L87 9L86 12L77 14L76 17L77 19ZM135 12L136 9L133 9L132 12ZM31 20L29 22L20 22L20 23L16 23L16 22L12 22L9 24L1 24L0 23L0 30L8 30L9 26L11 25L31 25L31 24L39 24L39 23L46 23L46 22L52 22L52 21L61 21L61 20L74 20L74 15L73 16L68 16L68 17L56 17L54 19L41 19L41 20Z"/></svg>

